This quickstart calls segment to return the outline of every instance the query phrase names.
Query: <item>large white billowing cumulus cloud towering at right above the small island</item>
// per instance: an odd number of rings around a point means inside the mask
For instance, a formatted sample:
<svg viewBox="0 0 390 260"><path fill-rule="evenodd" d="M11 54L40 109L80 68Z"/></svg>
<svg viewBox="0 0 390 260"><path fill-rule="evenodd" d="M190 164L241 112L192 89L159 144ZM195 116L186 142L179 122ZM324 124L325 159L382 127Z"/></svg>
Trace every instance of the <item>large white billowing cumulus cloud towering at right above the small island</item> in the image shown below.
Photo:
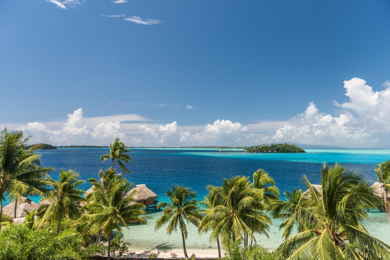
<svg viewBox="0 0 390 260"><path fill-rule="evenodd" d="M263 141L294 141L313 144L333 144L347 147L375 146L379 140L389 142L383 134L390 131L390 84L374 91L365 80L344 81L347 101L335 106L343 108L338 116L321 113L313 102L307 109L280 127Z"/></svg>

